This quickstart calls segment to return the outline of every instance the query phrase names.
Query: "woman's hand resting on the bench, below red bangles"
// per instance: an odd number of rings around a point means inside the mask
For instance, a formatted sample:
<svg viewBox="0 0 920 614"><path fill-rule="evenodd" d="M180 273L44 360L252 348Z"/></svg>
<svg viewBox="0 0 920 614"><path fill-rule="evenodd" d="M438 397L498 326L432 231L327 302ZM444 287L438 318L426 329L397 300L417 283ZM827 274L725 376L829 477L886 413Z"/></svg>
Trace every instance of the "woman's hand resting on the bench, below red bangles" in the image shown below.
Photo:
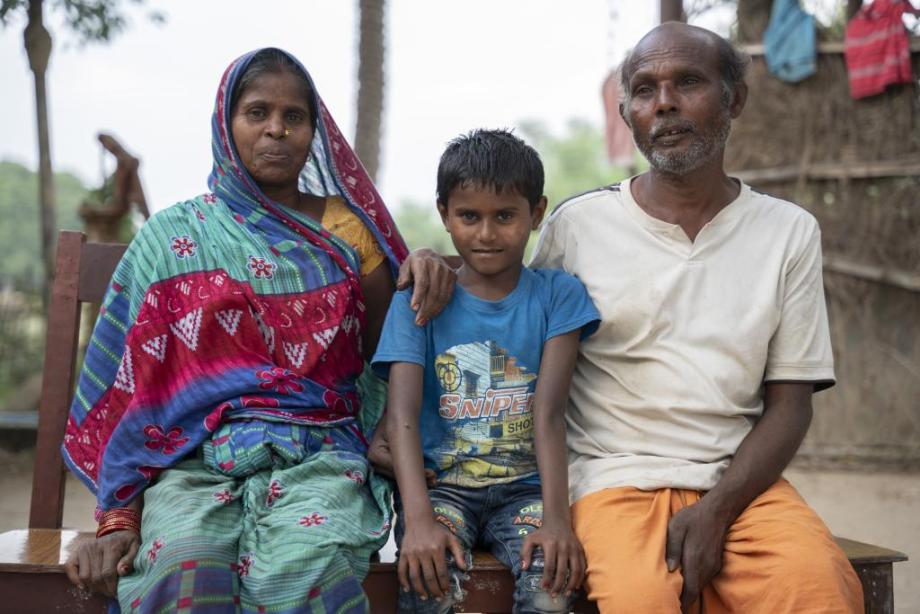
<svg viewBox="0 0 920 614"><path fill-rule="evenodd" d="M118 578L134 571L141 538L134 531L116 531L77 546L64 565L67 577L83 590L115 597Z"/></svg>

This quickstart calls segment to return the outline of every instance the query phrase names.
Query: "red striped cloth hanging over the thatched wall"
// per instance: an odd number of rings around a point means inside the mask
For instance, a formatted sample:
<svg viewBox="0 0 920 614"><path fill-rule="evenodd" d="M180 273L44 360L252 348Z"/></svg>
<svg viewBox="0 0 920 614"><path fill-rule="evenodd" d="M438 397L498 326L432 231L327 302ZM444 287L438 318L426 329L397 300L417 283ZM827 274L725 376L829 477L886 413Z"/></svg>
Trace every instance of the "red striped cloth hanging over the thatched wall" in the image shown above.
<svg viewBox="0 0 920 614"><path fill-rule="evenodd" d="M889 85L910 83L910 43L902 21L912 6L901 0L875 0L847 25L846 61L850 96L865 98Z"/></svg>

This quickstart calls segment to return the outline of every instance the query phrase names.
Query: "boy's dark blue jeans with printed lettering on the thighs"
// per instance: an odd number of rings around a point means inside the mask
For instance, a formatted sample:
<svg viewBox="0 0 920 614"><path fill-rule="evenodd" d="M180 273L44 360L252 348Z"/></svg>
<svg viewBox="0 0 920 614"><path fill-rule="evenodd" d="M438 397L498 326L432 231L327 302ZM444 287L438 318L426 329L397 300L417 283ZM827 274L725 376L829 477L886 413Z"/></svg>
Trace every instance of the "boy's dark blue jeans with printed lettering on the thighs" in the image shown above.
<svg viewBox="0 0 920 614"><path fill-rule="evenodd" d="M537 548L530 569L521 571L521 545L524 537L543 523L543 499L539 484L496 484L484 488L439 485L428 491L437 522L450 530L466 550L467 563L473 546L479 545L511 569L514 574L514 612L556 614L568 612L573 598L559 595L553 599L541 588L543 552ZM396 499L396 545L402 544L406 532L402 502ZM446 555L447 553L445 553ZM467 576L448 556L451 594L441 601L429 597L423 601L414 590L399 592L398 611L402 613L444 614L453 611L454 603L464 598L463 581Z"/></svg>

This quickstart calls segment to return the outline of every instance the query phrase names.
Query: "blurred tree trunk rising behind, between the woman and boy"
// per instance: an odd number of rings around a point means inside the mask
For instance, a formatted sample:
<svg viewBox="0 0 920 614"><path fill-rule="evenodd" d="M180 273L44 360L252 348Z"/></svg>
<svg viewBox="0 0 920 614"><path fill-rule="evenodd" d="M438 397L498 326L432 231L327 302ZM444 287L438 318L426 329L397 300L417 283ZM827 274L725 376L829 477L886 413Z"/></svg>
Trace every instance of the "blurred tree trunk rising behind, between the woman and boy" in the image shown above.
<svg viewBox="0 0 920 614"><path fill-rule="evenodd" d="M358 44L358 117L355 153L371 180L380 166L380 128L383 116L385 0L360 0Z"/></svg>

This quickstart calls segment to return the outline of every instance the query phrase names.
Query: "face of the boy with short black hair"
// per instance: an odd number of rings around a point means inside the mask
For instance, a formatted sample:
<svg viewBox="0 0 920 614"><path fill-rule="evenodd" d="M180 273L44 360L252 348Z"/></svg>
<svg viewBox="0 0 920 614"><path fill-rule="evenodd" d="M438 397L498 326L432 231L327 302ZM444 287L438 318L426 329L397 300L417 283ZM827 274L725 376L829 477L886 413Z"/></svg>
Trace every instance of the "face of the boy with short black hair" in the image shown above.
<svg viewBox="0 0 920 614"><path fill-rule="evenodd" d="M517 274L530 232L543 220L546 197L531 212L516 192L461 184L448 200L447 206L438 203L438 211L465 265L484 278Z"/></svg>

